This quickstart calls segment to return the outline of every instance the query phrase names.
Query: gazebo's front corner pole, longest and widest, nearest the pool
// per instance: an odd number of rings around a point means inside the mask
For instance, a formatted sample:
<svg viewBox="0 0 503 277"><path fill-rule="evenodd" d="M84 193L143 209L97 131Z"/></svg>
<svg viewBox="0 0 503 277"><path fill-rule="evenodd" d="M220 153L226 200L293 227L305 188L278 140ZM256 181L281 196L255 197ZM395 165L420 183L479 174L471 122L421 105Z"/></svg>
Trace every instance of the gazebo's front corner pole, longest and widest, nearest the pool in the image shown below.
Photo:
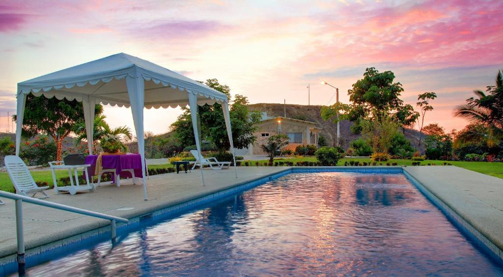
<svg viewBox="0 0 503 277"><path fill-rule="evenodd" d="M143 181L143 200L147 199L147 182L145 178L145 137L143 136L143 108L145 107L145 81L140 77L126 77L127 91L133 114L134 129L138 141L138 152L141 155L141 172Z"/></svg>

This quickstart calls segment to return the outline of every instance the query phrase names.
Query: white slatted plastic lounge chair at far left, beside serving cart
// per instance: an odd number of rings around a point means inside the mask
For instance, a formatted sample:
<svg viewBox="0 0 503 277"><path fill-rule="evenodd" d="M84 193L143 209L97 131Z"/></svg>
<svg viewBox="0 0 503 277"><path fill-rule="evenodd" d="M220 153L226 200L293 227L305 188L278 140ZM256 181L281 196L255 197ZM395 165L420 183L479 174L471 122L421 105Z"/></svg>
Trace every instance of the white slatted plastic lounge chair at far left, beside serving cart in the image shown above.
<svg viewBox="0 0 503 277"><path fill-rule="evenodd" d="M9 177L11 177L11 181L14 184L14 188L16 189L17 194L21 194L24 196L35 197L35 194L42 193L44 197L49 197L45 190L49 187L38 187L30 172L28 171L28 167L26 167L25 162L21 160L18 156L6 156L5 157L5 167L7 168L7 172L9 173ZM31 194L31 195L28 195Z"/></svg>

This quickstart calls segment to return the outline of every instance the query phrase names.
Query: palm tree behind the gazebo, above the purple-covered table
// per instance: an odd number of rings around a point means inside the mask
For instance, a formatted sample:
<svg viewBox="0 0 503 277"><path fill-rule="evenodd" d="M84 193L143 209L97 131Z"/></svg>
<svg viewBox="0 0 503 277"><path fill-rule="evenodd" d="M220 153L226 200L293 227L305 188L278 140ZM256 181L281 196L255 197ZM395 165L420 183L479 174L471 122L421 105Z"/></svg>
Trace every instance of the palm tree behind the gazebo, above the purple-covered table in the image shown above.
<svg viewBox="0 0 503 277"><path fill-rule="evenodd" d="M105 121L106 115L97 115L94 120L94 133L93 133L93 148L96 151L99 141L106 135L117 135L127 137L128 140L133 138L131 129L127 126L119 126L116 128L111 128L110 125ZM73 132L77 135L75 137L75 144L80 143L80 141L87 140L88 135L86 133L86 122L80 120L73 125Z"/></svg>

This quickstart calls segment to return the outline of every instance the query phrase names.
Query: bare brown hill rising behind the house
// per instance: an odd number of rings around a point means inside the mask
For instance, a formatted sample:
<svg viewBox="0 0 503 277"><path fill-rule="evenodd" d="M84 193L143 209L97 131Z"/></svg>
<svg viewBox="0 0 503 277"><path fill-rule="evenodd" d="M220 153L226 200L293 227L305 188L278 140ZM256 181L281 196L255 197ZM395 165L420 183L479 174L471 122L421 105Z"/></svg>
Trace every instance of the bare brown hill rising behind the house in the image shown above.
<svg viewBox="0 0 503 277"><path fill-rule="evenodd" d="M248 108L254 111L267 112L268 116L285 116L284 104L258 103L249 104ZM337 137L337 124L325 121L321 118L321 106L287 104L286 117L316 122L322 129L321 135L326 138L330 146L333 145L333 141ZM348 120L343 120L340 123L340 132L344 140L343 147L345 149L348 148L351 141L361 137L360 134L354 134L351 131L351 125L353 125L353 122ZM415 146L415 148L417 148L419 140L419 132L417 130L405 129L405 137L411 142L413 147Z"/></svg>

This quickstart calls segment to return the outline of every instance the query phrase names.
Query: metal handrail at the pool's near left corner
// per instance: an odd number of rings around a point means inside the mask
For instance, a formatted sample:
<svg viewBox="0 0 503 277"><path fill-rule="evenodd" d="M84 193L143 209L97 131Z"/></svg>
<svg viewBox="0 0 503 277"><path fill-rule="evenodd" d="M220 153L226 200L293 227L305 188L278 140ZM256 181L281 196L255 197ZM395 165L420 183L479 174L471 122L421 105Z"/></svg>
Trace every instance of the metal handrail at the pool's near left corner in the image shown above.
<svg viewBox="0 0 503 277"><path fill-rule="evenodd" d="M25 243L24 243L24 237L23 237L23 201L28 202L28 203L32 203L35 205L45 206L45 207L63 210L63 211L67 211L67 212L73 212L73 213L78 213L78 214L82 214L82 215L89 215L89 216L93 216L93 217L108 219L108 220L110 220L110 231L111 231L112 239L114 239L117 236L116 226L115 226L116 221L124 222L124 223L129 222L126 218L103 214L103 213L98 213L98 212L93 212L93 211L84 210L84 209L80 209L80 208L75 208L75 207L71 207L71 206L67 206L67 205L63 205L63 204L53 203L53 202L40 200L37 198L32 198L32 197L28 197L28 196L24 196L24 195L14 194L14 193L10 193L10 192L0 191L0 196L16 201L16 234L17 234L17 239L18 239L18 258L17 258L17 260L18 260L18 266L19 266L20 270L21 270L21 268L23 268L23 271L24 271L24 266L25 266Z"/></svg>

